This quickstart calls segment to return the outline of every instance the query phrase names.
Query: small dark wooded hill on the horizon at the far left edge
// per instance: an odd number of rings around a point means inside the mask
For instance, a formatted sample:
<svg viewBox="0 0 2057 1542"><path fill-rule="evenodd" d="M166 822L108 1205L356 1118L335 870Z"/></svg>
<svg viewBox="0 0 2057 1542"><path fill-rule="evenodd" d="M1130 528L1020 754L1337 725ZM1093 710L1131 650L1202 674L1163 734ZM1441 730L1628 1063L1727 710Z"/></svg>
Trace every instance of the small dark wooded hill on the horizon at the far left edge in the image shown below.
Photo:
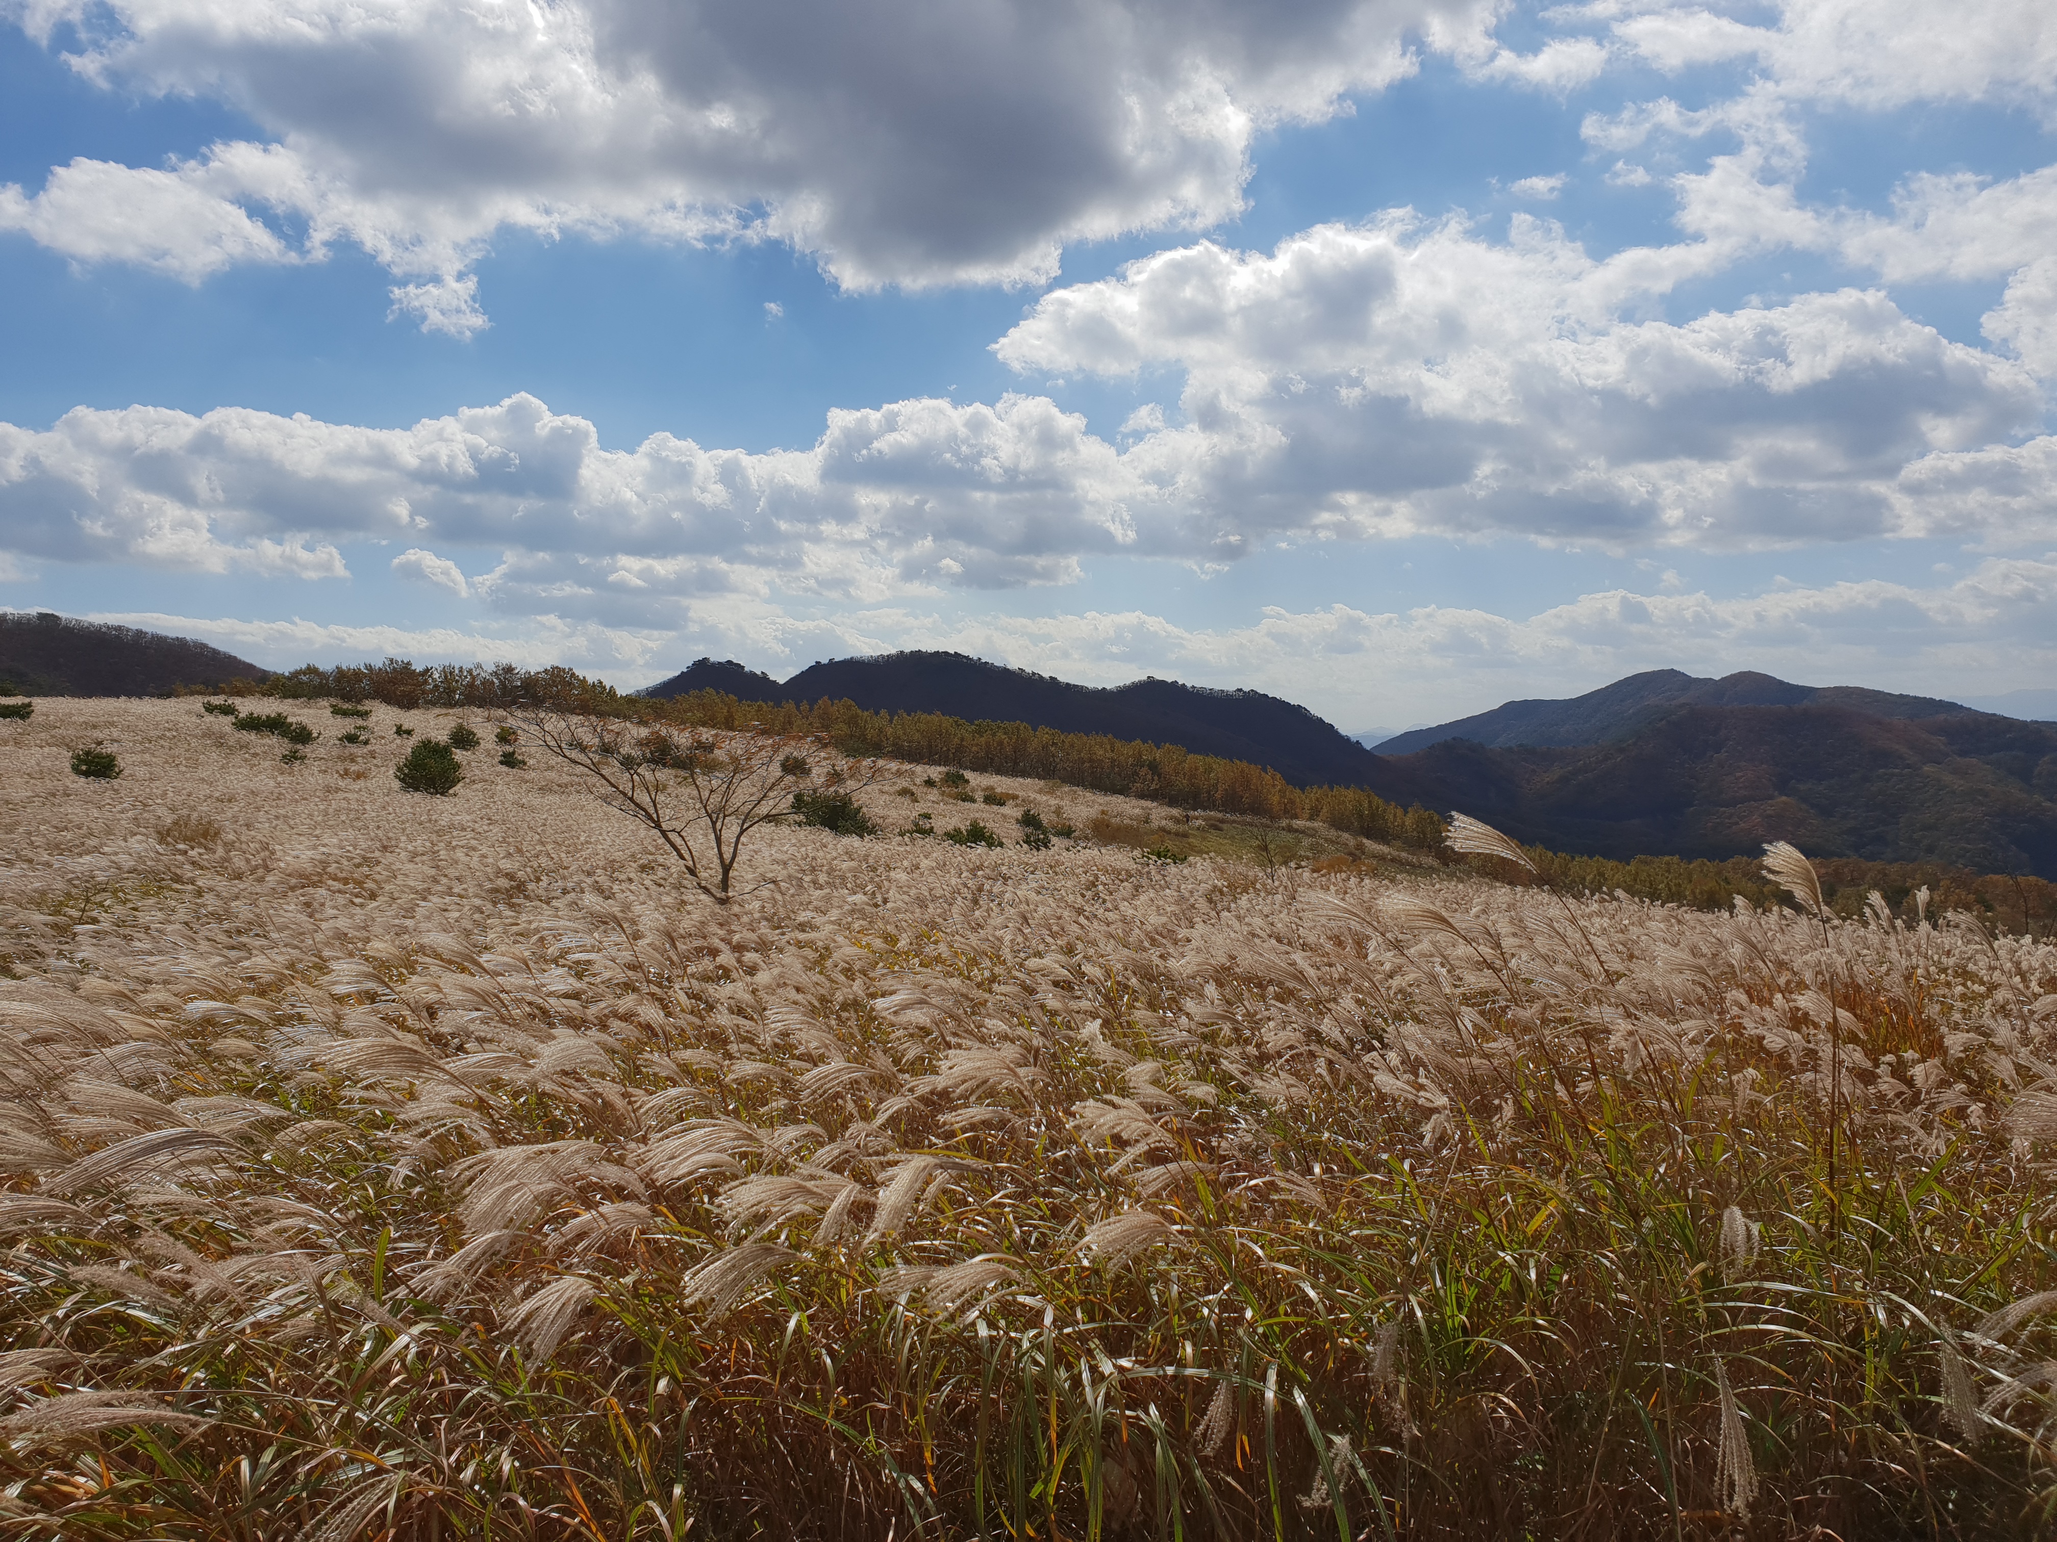
<svg viewBox="0 0 2057 1542"><path fill-rule="evenodd" d="M175 685L261 681L269 670L193 637L41 611L0 611L0 689L45 697L156 697Z"/></svg>

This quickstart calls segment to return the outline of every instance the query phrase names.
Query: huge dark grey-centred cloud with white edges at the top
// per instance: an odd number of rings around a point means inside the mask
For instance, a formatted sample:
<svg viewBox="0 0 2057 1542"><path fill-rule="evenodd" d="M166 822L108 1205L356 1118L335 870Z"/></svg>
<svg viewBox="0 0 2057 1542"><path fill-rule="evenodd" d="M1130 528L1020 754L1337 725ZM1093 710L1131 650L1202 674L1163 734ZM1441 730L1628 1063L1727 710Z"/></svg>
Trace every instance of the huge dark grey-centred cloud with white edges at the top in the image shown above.
<svg viewBox="0 0 2057 1542"><path fill-rule="evenodd" d="M185 278L288 255L263 212L304 224L304 255L354 241L430 280L500 228L769 236L856 288L1045 280L1070 241L1234 214L1259 132L1329 117L1419 47L1545 84L1596 68L1590 45L1495 53L1493 0L10 10L45 43L76 27L88 80L214 99L272 136L0 191L0 224ZM459 333L475 310L434 286L395 302Z"/></svg>

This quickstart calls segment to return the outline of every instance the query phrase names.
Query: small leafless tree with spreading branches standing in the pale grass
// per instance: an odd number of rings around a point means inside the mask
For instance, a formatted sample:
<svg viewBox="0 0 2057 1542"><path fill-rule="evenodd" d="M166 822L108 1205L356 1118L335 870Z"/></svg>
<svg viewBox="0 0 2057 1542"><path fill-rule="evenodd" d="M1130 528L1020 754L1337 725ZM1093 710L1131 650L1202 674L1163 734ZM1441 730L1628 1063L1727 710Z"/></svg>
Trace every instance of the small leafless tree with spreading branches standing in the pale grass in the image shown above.
<svg viewBox="0 0 2057 1542"><path fill-rule="evenodd" d="M872 761L839 761L827 740L810 734L679 738L662 728L547 707L508 718L535 748L599 783L592 792L603 804L656 831L716 905L736 896L743 841L759 824L790 818L796 792L819 783L856 794L876 777ZM827 761L819 777L815 761Z"/></svg>

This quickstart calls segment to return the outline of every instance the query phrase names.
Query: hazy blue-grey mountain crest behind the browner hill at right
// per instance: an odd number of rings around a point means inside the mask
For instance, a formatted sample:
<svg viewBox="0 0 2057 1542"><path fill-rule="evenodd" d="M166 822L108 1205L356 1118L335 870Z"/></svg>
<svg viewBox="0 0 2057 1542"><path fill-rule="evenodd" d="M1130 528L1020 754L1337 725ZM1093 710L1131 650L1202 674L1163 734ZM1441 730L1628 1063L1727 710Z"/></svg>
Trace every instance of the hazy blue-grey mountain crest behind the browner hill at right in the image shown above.
<svg viewBox="0 0 2057 1542"><path fill-rule="evenodd" d="M1469 738L1487 748L1512 744L1569 746L1625 738L1674 707L1847 707L1872 718L1948 718L1971 711L1956 701L1866 691L1860 685L1792 685L1744 670L1703 678L1683 670L1646 670L1563 701L1508 701L1473 718L1436 728L1415 728L1382 740L1380 755L1413 755L1448 738Z"/></svg>

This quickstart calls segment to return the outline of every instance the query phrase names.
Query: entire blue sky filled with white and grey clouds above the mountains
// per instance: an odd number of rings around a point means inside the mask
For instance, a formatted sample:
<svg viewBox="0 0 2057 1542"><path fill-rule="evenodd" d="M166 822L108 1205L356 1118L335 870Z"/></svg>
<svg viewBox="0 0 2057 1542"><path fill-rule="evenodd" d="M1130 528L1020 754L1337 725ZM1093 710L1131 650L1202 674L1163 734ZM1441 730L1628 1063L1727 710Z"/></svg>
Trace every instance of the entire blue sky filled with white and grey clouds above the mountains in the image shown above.
<svg viewBox="0 0 2057 1542"><path fill-rule="evenodd" d="M2057 681L2057 8L0 0L0 609Z"/></svg>

